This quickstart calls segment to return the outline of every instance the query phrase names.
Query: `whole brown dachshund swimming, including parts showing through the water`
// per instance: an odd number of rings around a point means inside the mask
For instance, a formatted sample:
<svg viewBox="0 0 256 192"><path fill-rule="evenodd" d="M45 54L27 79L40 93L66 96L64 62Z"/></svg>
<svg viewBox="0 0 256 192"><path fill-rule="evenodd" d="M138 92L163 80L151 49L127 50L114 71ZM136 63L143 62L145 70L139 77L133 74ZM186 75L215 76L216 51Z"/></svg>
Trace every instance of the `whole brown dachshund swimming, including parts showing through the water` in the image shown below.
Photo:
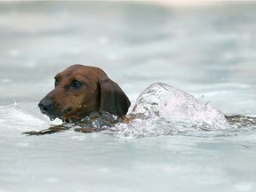
<svg viewBox="0 0 256 192"><path fill-rule="evenodd" d="M127 124L139 116L126 116L131 101L100 68L76 64L58 73L54 79L55 88L39 102L38 107L51 120L60 118L63 124L24 133L43 135L61 132L72 127L68 124L78 125L74 128L76 132L98 132L116 123ZM139 118L145 116L140 114ZM224 118L229 124L237 126L238 123L240 127L256 125L255 117L233 115Z"/></svg>

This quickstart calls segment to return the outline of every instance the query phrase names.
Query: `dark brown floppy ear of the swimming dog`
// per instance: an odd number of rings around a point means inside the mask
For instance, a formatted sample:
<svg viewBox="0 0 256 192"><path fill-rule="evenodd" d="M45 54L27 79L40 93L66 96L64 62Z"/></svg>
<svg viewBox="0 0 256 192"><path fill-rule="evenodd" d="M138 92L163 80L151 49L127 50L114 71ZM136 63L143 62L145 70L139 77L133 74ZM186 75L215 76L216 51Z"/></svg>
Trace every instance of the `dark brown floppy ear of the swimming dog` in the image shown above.
<svg viewBox="0 0 256 192"><path fill-rule="evenodd" d="M124 116L131 105L123 90L108 76L101 77L100 83L100 110L116 116Z"/></svg>

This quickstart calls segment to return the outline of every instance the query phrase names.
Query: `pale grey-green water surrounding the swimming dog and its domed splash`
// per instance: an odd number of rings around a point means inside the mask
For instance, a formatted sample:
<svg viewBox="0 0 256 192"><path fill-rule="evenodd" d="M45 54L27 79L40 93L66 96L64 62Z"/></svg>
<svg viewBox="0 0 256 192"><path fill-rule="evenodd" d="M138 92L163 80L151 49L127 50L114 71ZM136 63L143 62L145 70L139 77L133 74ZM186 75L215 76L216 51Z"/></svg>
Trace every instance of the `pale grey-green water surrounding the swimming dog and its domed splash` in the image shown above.
<svg viewBox="0 0 256 192"><path fill-rule="evenodd" d="M132 107L164 82L225 115L255 116L255 8L1 2L0 191L255 191L255 126L167 130L156 119L114 134L22 134L60 124L37 103L73 63L103 68Z"/></svg>

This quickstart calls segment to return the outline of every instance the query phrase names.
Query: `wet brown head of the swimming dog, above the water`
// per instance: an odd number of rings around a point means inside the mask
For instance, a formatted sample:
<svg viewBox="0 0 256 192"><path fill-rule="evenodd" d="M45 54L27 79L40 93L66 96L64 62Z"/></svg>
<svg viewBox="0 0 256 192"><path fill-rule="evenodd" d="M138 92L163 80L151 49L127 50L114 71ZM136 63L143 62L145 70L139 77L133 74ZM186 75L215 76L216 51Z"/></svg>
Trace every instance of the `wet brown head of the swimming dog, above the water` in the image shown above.
<svg viewBox="0 0 256 192"><path fill-rule="evenodd" d="M38 104L41 112L51 120L58 117L63 122L76 123L92 112L107 112L120 118L126 115L131 105L119 85L100 68L73 65L54 78L55 88ZM55 132L59 128L55 126L51 130Z"/></svg>

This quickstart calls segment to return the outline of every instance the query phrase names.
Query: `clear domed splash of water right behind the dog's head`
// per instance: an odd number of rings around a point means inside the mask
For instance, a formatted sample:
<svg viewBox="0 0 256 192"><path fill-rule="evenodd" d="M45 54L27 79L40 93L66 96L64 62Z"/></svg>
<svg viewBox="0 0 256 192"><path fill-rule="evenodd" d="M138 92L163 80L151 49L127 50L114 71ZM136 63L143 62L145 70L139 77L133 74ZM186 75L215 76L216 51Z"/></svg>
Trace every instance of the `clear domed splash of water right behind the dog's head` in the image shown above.
<svg viewBox="0 0 256 192"><path fill-rule="evenodd" d="M152 84L141 92L129 116L129 124L115 126L116 136L133 138L229 128L218 108L209 102L202 105L192 95L163 83Z"/></svg>

